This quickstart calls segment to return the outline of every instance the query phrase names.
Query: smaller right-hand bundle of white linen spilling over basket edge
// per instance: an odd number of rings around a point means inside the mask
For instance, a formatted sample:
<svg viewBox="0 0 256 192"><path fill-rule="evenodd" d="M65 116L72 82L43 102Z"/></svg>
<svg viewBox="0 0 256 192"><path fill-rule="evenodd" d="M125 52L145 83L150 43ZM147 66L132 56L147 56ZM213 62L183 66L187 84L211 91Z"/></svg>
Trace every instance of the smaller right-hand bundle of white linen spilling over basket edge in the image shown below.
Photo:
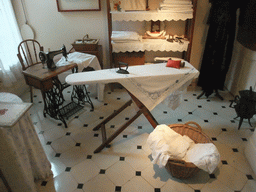
<svg viewBox="0 0 256 192"><path fill-rule="evenodd" d="M220 154L213 143L197 143L189 148L184 160L211 174L220 163Z"/></svg>

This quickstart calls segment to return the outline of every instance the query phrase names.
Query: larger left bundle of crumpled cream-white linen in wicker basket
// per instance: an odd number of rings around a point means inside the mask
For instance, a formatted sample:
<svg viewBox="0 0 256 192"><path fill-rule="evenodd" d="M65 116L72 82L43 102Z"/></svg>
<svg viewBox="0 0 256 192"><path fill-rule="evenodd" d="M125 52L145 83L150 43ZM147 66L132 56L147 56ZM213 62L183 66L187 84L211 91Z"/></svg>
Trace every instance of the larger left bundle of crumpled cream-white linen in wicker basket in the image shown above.
<svg viewBox="0 0 256 192"><path fill-rule="evenodd" d="M162 124L150 133L147 144L152 151L152 162L158 164L159 167L164 167L169 158L181 160L194 141Z"/></svg>

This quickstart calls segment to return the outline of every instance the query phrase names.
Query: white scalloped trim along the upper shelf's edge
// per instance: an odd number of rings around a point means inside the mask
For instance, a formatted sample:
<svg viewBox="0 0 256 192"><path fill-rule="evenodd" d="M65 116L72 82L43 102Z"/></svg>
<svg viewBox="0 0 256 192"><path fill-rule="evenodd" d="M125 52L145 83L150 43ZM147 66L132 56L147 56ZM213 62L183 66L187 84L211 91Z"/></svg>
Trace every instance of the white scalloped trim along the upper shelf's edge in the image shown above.
<svg viewBox="0 0 256 192"><path fill-rule="evenodd" d="M158 12L154 11L131 11L131 12L111 12L113 21L178 21L193 18L193 10L189 13L181 12Z"/></svg>

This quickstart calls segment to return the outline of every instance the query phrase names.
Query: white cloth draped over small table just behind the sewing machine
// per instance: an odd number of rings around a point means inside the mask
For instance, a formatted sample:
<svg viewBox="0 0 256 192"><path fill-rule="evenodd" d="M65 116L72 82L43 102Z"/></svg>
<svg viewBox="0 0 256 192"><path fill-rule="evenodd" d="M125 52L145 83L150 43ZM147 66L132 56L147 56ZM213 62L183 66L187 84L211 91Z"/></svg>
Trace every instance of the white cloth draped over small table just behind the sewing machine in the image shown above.
<svg viewBox="0 0 256 192"><path fill-rule="evenodd" d="M76 63L78 65L78 71L82 72L85 67L92 67L94 70L101 70L100 63L95 55L73 52L68 54L67 61L65 57L56 63L56 66L64 66L71 63ZM104 85L103 84L94 84L88 87L88 91L92 94L98 94L98 100L103 101L104 95Z"/></svg>

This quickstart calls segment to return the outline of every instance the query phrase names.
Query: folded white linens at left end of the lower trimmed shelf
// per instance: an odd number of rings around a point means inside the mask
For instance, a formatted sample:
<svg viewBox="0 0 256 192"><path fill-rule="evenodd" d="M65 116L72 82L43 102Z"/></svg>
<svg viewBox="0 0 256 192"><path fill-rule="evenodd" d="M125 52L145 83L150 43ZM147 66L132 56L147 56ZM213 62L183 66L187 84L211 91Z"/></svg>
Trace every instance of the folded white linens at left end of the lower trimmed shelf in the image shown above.
<svg viewBox="0 0 256 192"><path fill-rule="evenodd" d="M142 37L134 31L112 31L111 40L115 43L140 42Z"/></svg>

